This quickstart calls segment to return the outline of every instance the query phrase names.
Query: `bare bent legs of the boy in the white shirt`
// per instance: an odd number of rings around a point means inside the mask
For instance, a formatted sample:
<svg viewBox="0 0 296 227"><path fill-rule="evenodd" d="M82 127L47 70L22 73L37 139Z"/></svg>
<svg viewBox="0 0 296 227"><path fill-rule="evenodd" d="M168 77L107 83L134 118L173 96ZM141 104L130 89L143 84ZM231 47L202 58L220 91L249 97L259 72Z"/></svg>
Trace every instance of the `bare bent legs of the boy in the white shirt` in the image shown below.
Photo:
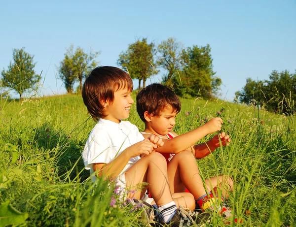
<svg viewBox="0 0 296 227"><path fill-rule="evenodd" d="M157 206L162 206L173 201L171 195L167 167L165 158L158 152L152 152L148 156L143 157L141 160L136 162L131 168L125 173L125 180L128 189L139 189L139 184L147 182L149 184L149 190L151 196L154 198ZM136 191L134 194L129 194L128 197L142 198L146 192L147 186L141 190ZM190 195L185 195L186 199L178 198L174 201L178 202L178 205L186 206L189 204L192 206L194 198Z"/></svg>

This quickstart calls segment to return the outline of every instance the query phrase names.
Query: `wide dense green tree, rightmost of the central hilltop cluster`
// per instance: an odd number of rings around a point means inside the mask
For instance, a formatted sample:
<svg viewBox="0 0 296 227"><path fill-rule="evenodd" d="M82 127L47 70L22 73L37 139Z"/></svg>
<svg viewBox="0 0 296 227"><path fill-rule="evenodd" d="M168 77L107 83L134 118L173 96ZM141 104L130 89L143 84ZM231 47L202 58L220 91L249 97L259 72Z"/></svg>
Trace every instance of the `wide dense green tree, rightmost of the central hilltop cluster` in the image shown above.
<svg viewBox="0 0 296 227"><path fill-rule="evenodd" d="M215 77L210 45L188 47L181 55L183 68L172 77L177 95L182 97L212 98L222 83Z"/></svg>

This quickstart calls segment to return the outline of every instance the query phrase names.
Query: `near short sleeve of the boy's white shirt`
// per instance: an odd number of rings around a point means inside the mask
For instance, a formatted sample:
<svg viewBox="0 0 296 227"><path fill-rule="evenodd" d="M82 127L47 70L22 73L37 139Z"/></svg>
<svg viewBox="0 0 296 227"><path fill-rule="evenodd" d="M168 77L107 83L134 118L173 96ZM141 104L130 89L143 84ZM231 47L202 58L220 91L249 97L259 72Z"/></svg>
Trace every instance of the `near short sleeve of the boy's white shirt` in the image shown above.
<svg viewBox="0 0 296 227"><path fill-rule="evenodd" d="M104 135L90 135L82 152L85 169L91 169L93 163L109 163L114 159L113 146Z"/></svg>

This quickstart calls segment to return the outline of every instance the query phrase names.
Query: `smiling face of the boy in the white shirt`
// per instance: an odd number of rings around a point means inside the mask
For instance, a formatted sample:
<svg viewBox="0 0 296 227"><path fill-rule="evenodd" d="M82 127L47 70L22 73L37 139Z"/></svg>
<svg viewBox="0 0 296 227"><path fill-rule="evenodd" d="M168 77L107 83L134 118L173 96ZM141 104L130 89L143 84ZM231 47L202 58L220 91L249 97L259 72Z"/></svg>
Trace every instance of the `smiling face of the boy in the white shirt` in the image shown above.
<svg viewBox="0 0 296 227"><path fill-rule="evenodd" d="M114 92L114 100L110 103L108 100L104 105L104 114L106 117L103 119L110 120L115 123L120 123L121 119L129 117L130 107L134 103L131 97L131 91L125 87L120 88Z"/></svg>

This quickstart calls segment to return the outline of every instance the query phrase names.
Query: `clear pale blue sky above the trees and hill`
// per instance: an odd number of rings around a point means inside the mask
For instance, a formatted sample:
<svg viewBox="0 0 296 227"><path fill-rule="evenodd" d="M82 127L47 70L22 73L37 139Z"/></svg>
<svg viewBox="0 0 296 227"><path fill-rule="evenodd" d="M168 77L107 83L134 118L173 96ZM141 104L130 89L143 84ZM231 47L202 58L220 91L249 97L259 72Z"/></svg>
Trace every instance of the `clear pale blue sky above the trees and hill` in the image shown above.
<svg viewBox="0 0 296 227"><path fill-rule="evenodd" d="M184 47L210 44L222 98L228 100L247 77L263 80L272 70L296 69L296 0L6 0L0 8L0 70L12 61L13 48L25 47L36 72L43 70L41 95L66 93L57 66L71 44L101 51L99 65L112 66L137 38L159 44L174 37Z"/></svg>

